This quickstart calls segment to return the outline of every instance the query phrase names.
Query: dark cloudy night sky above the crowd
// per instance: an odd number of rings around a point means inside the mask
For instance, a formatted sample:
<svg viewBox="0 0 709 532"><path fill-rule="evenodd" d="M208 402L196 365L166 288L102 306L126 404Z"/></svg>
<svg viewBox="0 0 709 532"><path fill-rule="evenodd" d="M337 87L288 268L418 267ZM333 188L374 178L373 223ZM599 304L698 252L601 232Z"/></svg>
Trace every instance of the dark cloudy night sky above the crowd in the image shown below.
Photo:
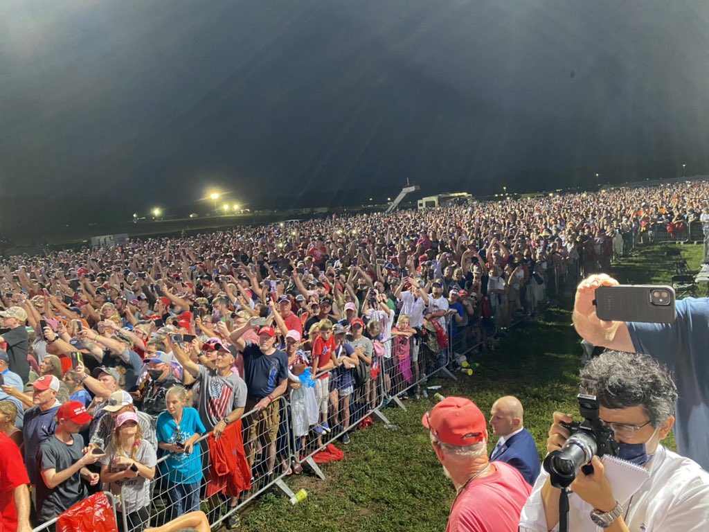
<svg viewBox="0 0 709 532"><path fill-rule="evenodd" d="M705 0L3 0L0 193L705 173L708 28Z"/></svg>

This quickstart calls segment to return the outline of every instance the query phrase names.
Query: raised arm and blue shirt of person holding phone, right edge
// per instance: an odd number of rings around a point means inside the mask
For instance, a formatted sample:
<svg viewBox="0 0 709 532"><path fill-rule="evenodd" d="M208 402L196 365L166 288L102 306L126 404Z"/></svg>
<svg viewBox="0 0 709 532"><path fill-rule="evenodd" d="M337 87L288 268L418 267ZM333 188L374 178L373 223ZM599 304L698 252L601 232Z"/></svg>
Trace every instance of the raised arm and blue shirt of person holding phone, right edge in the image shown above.
<svg viewBox="0 0 709 532"><path fill-rule="evenodd" d="M673 323L602 321L596 316L596 289L618 286L608 275L591 275L576 289L574 327L593 345L650 355L675 374L679 398L675 437L681 455L709 470L709 301L676 301Z"/></svg>

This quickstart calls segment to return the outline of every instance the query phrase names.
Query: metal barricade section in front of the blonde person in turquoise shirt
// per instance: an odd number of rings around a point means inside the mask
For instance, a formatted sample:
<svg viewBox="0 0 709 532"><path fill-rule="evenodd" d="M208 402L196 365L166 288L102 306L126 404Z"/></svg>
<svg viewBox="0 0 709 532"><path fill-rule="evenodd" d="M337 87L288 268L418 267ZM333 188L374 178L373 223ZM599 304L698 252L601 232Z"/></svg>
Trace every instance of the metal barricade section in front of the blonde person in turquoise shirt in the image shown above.
<svg viewBox="0 0 709 532"><path fill-rule="evenodd" d="M294 457L290 427L289 401L277 397L265 409L251 409L230 423L219 438L223 438L221 448L219 440L207 433L196 440L189 455L165 453L157 460L155 477L150 482L151 497L143 506L145 511L138 511L135 503L125 508L121 487L118 515L125 523L124 530L161 526L200 508L208 514L211 525L216 526L273 486L294 497L283 482ZM235 433L228 436L229 430ZM189 466L184 462L195 456L198 472L191 470L186 476L186 468L194 468L195 464Z"/></svg>

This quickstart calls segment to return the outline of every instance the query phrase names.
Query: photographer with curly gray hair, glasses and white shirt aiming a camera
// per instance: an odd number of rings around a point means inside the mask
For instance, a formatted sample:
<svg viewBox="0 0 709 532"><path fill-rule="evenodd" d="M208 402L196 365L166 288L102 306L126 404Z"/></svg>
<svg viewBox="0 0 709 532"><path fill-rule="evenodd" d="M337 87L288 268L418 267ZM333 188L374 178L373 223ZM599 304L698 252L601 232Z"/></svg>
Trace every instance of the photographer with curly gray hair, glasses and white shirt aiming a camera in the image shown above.
<svg viewBox="0 0 709 532"><path fill-rule="evenodd" d="M660 443L674 424L669 371L647 355L607 351L581 370L579 392L585 420L554 412L549 455L520 531L556 529L564 486L572 493L562 531L707 530L709 474Z"/></svg>

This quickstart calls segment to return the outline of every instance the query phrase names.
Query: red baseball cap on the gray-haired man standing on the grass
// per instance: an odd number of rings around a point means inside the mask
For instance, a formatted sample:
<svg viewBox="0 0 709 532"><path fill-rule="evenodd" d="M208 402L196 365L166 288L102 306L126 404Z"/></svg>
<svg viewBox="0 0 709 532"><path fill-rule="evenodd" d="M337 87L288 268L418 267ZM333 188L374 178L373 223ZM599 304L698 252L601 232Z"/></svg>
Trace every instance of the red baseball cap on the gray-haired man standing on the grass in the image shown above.
<svg viewBox="0 0 709 532"><path fill-rule="evenodd" d="M448 445L464 447L488 439L485 416L463 397L446 397L423 415L421 423Z"/></svg>

